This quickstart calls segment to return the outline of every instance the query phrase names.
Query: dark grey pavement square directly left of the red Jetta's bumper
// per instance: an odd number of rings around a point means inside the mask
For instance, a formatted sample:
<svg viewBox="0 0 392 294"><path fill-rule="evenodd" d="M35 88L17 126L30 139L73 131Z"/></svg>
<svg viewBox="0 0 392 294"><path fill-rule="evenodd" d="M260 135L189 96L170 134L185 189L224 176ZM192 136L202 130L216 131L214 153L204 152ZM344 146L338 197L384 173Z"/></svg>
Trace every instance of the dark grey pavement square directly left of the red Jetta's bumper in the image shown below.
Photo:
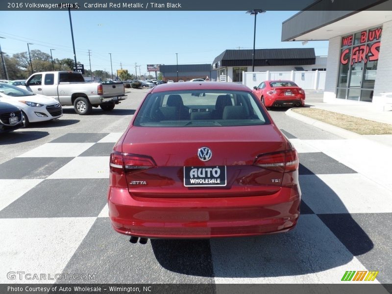
<svg viewBox="0 0 392 294"><path fill-rule="evenodd" d="M0 211L0 218L97 217L107 179L47 179Z"/></svg>

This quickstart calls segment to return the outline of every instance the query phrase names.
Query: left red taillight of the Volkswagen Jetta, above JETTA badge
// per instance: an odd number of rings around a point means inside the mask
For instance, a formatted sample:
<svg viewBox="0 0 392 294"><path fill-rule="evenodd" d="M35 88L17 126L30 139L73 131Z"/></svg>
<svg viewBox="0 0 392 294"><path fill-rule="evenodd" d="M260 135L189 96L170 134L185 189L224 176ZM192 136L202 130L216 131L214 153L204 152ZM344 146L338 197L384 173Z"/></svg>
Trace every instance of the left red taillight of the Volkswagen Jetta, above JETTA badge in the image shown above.
<svg viewBox="0 0 392 294"><path fill-rule="evenodd" d="M113 151L110 154L110 171L116 173L133 173L155 166L152 158L145 155Z"/></svg>

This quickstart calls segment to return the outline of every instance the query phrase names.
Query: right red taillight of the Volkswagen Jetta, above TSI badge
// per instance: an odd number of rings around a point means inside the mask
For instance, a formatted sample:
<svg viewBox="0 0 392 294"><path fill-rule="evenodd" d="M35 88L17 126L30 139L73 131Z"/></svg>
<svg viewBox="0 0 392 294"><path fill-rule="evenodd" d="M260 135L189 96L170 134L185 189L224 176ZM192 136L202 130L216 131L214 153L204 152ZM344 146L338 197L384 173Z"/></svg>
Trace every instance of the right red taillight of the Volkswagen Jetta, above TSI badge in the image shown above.
<svg viewBox="0 0 392 294"><path fill-rule="evenodd" d="M293 172L298 169L299 161L295 149L262 154L256 158L255 165L276 172Z"/></svg>

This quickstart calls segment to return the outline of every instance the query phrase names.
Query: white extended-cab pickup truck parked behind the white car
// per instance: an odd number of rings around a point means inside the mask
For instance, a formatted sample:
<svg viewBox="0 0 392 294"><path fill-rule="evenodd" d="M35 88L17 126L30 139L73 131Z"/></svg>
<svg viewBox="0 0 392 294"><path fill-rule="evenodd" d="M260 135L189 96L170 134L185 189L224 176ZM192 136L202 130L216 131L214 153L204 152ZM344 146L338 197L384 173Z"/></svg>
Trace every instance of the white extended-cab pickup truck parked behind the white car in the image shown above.
<svg viewBox="0 0 392 294"><path fill-rule="evenodd" d="M33 73L18 87L55 98L61 105L73 105L80 115L90 114L92 108L98 106L110 111L126 96L122 82L85 82L78 72Z"/></svg>

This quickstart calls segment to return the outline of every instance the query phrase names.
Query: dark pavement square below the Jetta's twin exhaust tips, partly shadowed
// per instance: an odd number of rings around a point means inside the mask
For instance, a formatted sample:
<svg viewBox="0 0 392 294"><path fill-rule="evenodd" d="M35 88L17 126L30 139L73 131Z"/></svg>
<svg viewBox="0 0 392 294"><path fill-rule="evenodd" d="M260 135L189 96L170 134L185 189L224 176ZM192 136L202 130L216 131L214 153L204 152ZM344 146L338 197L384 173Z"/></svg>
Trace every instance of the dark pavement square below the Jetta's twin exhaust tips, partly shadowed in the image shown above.
<svg viewBox="0 0 392 294"><path fill-rule="evenodd" d="M94 281L82 283L214 283L208 240L131 244L129 236L114 231L109 218L95 221L63 272L96 274Z"/></svg>

